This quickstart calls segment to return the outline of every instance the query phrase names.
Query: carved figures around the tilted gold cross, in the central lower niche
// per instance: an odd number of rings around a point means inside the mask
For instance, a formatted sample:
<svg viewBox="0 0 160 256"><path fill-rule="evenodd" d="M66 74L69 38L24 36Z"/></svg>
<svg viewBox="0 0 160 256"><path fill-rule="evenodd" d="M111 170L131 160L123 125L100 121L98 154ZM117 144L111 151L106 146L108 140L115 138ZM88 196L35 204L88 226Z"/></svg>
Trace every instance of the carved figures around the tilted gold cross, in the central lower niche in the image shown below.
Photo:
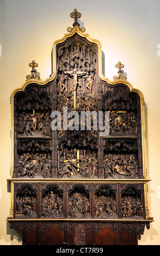
<svg viewBox="0 0 160 256"><path fill-rule="evenodd" d="M77 159L76 151L71 149L65 160L64 156L60 157L59 178L72 178L73 175L81 176L81 178L97 176L97 154L85 155L85 150L78 150L79 157Z"/></svg>

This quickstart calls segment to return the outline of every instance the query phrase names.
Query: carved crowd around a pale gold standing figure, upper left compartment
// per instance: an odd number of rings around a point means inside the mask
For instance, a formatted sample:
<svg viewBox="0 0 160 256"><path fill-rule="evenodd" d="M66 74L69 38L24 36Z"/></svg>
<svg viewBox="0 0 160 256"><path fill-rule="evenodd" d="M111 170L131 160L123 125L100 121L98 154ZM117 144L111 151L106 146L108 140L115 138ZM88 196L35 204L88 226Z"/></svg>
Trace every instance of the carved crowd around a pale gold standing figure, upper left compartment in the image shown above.
<svg viewBox="0 0 160 256"><path fill-rule="evenodd" d="M21 113L16 120L17 135L51 136L51 117L48 113Z"/></svg>

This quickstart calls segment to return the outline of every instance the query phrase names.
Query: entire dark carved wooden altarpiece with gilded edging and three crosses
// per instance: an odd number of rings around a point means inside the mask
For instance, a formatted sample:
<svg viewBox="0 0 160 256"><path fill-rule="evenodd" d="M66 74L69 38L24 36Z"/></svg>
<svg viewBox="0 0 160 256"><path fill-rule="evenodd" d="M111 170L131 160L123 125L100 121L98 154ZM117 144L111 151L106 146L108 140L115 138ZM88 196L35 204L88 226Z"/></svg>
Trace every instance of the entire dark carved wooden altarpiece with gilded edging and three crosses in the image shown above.
<svg viewBox="0 0 160 256"><path fill-rule="evenodd" d="M101 72L101 44L73 27L54 42L52 75L33 60L11 94L10 228L23 245L137 245L150 227L143 94L115 65Z"/></svg>

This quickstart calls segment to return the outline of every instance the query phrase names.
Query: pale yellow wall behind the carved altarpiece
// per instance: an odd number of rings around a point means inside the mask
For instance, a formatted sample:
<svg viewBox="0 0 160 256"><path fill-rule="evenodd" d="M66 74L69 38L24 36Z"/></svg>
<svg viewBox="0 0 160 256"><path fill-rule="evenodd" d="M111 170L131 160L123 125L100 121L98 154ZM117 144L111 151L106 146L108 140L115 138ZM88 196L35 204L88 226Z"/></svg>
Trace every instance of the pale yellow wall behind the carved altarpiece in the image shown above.
<svg viewBox="0 0 160 256"><path fill-rule="evenodd" d="M43 80L51 75L52 44L72 26L70 13L75 8L82 14L86 33L102 44L105 76L113 80L118 71L115 64L120 60L127 81L144 94L147 173L152 180L149 209L155 222L149 230L145 228L139 245L159 245L159 0L0 0L0 245L21 245L20 232L11 230L6 222L10 211L10 94L26 81L33 59Z"/></svg>

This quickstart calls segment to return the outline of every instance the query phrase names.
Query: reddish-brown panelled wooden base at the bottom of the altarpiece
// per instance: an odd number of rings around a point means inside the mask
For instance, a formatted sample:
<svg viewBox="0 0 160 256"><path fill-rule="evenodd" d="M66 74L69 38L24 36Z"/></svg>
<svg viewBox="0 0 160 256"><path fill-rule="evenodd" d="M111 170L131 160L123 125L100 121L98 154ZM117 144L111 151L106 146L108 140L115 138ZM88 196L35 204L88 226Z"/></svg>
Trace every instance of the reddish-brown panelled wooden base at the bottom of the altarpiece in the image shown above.
<svg viewBox="0 0 160 256"><path fill-rule="evenodd" d="M147 223L122 222L10 222L23 231L23 245L137 245Z"/></svg>

